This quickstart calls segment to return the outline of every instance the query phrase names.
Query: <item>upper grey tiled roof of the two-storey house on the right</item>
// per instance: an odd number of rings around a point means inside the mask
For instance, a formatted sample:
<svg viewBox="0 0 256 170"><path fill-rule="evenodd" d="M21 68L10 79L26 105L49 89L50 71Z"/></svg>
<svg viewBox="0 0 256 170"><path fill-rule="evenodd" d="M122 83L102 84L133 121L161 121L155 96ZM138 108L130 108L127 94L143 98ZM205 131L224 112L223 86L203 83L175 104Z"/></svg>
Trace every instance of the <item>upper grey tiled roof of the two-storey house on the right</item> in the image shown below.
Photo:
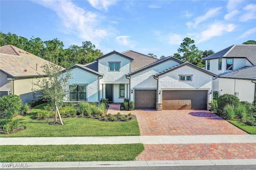
<svg viewBox="0 0 256 170"><path fill-rule="evenodd" d="M203 60L218 58L246 58L250 63L256 65L256 45L232 45L213 55L203 58Z"/></svg>

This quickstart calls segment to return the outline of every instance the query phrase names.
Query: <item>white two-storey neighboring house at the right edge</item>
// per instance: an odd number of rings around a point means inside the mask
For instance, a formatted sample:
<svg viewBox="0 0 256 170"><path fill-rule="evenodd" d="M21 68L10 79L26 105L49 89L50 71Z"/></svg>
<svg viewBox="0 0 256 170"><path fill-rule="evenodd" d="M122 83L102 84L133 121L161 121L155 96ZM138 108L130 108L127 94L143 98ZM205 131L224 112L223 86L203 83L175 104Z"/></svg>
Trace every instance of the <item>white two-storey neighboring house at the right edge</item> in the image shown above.
<svg viewBox="0 0 256 170"><path fill-rule="evenodd" d="M256 96L256 45L232 45L204 58L205 69L218 74L213 90L233 94L240 101Z"/></svg>

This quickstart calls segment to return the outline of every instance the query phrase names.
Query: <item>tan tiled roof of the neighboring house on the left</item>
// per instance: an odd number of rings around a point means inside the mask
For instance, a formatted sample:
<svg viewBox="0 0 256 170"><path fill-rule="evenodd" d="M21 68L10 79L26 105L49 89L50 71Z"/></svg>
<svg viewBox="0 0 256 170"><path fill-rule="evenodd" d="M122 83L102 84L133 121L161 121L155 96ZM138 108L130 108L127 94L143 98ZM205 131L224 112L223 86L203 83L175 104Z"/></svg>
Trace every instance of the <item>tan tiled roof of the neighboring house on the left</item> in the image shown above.
<svg viewBox="0 0 256 170"><path fill-rule="evenodd" d="M0 70L9 78L45 76L41 68L45 63L50 62L12 45L0 47Z"/></svg>

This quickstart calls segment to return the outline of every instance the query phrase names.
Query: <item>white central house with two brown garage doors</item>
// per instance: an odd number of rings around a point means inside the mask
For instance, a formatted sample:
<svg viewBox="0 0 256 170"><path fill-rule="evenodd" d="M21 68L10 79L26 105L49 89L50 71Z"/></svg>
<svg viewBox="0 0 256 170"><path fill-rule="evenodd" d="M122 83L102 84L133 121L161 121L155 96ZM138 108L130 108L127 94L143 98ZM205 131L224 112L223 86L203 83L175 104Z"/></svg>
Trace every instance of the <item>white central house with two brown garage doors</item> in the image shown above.
<svg viewBox="0 0 256 170"><path fill-rule="evenodd" d="M112 51L95 62L70 68L72 78L65 102L121 103L135 109L208 109L216 74L172 56L152 58L135 51ZM65 73L64 73L65 74Z"/></svg>

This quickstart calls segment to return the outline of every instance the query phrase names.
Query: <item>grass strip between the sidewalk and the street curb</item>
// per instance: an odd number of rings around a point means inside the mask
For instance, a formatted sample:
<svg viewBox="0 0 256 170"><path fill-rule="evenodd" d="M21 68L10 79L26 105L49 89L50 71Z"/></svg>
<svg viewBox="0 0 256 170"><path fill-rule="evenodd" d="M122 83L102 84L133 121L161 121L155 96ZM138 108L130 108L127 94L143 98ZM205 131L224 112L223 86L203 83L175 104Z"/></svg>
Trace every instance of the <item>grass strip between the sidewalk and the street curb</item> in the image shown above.
<svg viewBox="0 0 256 170"><path fill-rule="evenodd" d="M134 160L143 144L2 145L0 162L66 162Z"/></svg>

